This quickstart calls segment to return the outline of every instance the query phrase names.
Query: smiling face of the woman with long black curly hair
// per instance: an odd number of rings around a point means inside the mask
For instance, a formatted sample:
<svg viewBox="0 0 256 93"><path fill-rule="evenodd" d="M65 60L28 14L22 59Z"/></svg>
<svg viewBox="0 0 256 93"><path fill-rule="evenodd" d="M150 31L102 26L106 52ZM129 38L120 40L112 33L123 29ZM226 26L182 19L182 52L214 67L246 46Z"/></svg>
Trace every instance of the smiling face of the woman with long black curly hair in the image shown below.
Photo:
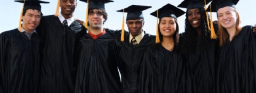
<svg viewBox="0 0 256 93"><path fill-rule="evenodd" d="M200 28L201 14L200 14L200 10L198 8L189 9L187 11L187 17L189 20L189 24L192 25L193 28L195 28L195 29Z"/></svg>

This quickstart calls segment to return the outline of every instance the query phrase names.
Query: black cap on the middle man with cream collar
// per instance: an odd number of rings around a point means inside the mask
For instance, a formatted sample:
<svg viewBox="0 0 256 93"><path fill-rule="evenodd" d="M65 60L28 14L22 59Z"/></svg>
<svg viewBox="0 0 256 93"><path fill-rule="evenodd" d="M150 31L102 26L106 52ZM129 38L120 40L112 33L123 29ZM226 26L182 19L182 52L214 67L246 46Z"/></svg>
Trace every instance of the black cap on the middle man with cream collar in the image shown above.
<svg viewBox="0 0 256 93"><path fill-rule="evenodd" d="M118 10L118 12L127 13L126 20L144 19L142 11L151 8L151 6L131 5L125 9Z"/></svg>

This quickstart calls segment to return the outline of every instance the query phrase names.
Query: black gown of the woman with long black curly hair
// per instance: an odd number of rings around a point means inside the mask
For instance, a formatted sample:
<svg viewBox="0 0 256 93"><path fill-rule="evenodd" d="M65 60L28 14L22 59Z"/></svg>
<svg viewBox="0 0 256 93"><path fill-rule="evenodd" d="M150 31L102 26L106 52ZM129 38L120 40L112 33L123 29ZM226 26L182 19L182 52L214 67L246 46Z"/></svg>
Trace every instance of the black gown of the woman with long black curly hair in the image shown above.
<svg viewBox="0 0 256 93"><path fill-rule="evenodd" d="M186 32L185 32L186 33ZM218 41L211 40L207 46L197 45L196 52L190 52L185 46L185 36L180 34L179 44L182 60L186 63L186 92L188 93L215 93L215 68L218 53ZM198 42L199 36L195 37Z"/></svg>

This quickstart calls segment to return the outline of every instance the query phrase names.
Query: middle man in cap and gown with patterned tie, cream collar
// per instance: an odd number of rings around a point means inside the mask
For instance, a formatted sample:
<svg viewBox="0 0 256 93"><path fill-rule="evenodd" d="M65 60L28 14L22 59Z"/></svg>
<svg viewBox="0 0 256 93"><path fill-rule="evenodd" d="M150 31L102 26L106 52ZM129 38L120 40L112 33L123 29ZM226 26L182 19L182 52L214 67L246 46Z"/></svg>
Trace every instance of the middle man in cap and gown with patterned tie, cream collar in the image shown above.
<svg viewBox="0 0 256 93"><path fill-rule="evenodd" d="M122 93L138 92L142 54L148 46L155 43L155 36L143 30L145 21L142 11L148 8L151 6L131 5L125 8L129 32L124 31L123 36L120 31L119 35L115 34L120 49L119 70L122 75ZM118 11L123 12L123 9Z"/></svg>

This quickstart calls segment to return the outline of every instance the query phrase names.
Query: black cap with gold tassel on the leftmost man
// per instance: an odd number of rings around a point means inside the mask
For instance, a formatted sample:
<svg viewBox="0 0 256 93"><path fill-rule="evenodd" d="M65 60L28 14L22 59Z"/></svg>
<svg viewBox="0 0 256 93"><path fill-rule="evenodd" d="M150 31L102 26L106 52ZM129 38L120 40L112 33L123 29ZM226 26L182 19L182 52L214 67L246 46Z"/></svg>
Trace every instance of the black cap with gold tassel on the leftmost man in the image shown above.
<svg viewBox="0 0 256 93"><path fill-rule="evenodd" d="M19 31L21 31L21 20L22 20L22 13L23 13L24 10L36 9L36 10L41 11L40 3L45 3L45 4L49 3L49 2L41 1L41 0L15 0L15 2L23 3L23 7L22 7L22 10L21 10L21 16L20 16L20 19L19 19Z"/></svg>

